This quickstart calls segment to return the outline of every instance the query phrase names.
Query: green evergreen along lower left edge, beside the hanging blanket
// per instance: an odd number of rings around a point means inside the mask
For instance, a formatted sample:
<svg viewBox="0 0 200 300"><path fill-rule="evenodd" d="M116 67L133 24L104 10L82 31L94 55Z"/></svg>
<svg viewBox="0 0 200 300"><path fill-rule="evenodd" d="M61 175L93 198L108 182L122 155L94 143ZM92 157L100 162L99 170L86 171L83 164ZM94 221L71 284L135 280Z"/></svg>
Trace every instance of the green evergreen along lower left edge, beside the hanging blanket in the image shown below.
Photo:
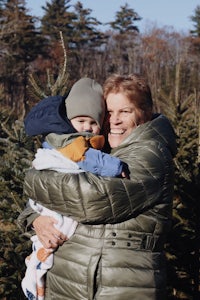
<svg viewBox="0 0 200 300"><path fill-rule="evenodd" d="M8 110L2 108L0 121L0 299L22 300L24 259L31 249L16 220L27 201L23 180L35 146L25 137L22 122Z"/></svg>

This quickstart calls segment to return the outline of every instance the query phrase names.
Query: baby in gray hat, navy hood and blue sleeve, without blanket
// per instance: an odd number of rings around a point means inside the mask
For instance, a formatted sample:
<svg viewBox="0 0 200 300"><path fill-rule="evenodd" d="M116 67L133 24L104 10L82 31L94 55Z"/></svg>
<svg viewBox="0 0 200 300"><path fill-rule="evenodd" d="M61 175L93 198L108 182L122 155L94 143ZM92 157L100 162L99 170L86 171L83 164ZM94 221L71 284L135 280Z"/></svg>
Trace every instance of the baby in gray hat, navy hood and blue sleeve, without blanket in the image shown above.
<svg viewBox="0 0 200 300"><path fill-rule="evenodd" d="M26 117L26 133L31 136L45 135L45 148L57 149L76 162L80 160L78 165L85 171L101 176L120 175L123 167L120 160L101 151L89 149L91 146L100 150L104 144L103 136L93 137L99 135L105 116L102 87L90 78L80 79L73 85L66 98L65 108L61 96L43 99ZM89 118L93 120L85 121ZM77 137L77 141L74 141ZM72 141L74 144L66 147ZM79 153L78 157L76 153ZM113 159L117 164L113 163ZM109 160L112 163L108 167ZM91 164L95 164L96 161L95 167L91 165L90 168L88 161ZM101 162L103 165L99 166ZM117 168L112 169L112 166ZM106 172L111 173L104 172L105 167Z"/></svg>

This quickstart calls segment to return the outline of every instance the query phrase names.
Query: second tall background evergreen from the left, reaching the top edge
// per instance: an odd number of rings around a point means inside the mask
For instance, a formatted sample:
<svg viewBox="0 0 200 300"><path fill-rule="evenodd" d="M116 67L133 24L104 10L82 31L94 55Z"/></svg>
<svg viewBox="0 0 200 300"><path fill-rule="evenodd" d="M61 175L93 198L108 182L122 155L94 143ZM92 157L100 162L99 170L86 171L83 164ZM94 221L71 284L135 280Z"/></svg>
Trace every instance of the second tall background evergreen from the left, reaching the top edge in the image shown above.
<svg viewBox="0 0 200 300"><path fill-rule="evenodd" d="M47 70L54 75L53 80L57 78L60 72L59 67L63 58L62 48L60 47L60 32L62 32L67 48L69 48L72 40L73 20L76 19L76 16L70 11L70 1L52 0L47 2L46 6L42 6L44 15L41 18L41 32L48 40L48 56L39 61L38 68L41 70L42 82L44 83L47 79Z"/></svg>

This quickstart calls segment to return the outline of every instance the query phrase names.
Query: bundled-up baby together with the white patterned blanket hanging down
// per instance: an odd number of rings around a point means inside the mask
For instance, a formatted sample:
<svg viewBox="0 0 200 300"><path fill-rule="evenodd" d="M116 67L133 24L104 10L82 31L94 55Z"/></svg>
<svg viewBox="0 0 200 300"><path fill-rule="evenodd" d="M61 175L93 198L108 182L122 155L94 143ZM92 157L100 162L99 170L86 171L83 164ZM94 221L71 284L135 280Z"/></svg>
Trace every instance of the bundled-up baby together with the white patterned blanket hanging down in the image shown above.
<svg viewBox="0 0 200 300"><path fill-rule="evenodd" d="M25 130L29 135L46 134L44 148L38 149L33 167L38 170L53 169L68 173L90 171L101 176L125 177L126 165L100 151L104 137L99 134L105 115L101 86L90 78L76 82L65 101L67 118L61 110L57 114L56 108L60 109L61 103L58 101L59 105L55 105L55 99L61 101L60 97L42 100L25 119ZM48 133L49 130L54 133ZM31 199L29 205L40 215L53 216L58 222L55 225L57 229L68 238L73 235L77 226L75 220L46 209ZM45 249L36 235L31 240L33 252L26 259L27 270L22 288L28 299L42 300L44 275L52 267L54 250Z"/></svg>

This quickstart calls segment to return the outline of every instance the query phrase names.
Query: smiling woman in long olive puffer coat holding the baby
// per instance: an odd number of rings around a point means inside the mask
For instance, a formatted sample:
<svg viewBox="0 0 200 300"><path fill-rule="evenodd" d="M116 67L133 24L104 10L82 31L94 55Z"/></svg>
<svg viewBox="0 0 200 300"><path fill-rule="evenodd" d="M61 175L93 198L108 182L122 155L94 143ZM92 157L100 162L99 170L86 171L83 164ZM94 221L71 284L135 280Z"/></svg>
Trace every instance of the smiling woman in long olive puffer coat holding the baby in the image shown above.
<svg viewBox="0 0 200 300"><path fill-rule="evenodd" d="M163 245L171 225L175 134L167 118L152 114L142 77L111 76L104 97L111 154L128 164L130 179L36 170L26 175L28 197L79 222L55 253L45 300L165 298ZM33 226L44 246L62 244L54 221L44 225L41 218Z"/></svg>

